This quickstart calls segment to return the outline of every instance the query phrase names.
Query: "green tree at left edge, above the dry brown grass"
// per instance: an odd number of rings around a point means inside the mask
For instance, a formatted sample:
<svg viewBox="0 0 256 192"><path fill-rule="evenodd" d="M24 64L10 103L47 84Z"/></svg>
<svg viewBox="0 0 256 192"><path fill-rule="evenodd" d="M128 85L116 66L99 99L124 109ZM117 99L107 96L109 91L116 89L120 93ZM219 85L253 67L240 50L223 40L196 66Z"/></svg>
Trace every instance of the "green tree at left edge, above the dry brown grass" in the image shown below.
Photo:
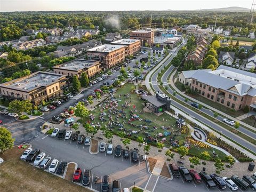
<svg viewBox="0 0 256 192"><path fill-rule="evenodd" d="M15 139L12 138L12 133L5 127L0 127L0 152L10 149L14 145Z"/></svg>

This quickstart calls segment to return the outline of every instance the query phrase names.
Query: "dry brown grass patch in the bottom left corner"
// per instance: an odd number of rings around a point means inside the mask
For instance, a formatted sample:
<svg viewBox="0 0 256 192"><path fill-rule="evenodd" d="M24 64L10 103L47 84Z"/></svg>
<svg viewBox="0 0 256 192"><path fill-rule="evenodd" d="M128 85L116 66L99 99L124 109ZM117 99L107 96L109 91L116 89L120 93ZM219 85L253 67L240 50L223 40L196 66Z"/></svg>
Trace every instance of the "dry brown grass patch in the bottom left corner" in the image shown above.
<svg viewBox="0 0 256 192"><path fill-rule="evenodd" d="M91 191L22 161L19 157L24 150L14 147L1 155L5 160L0 165L1 191Z"/></svg>

